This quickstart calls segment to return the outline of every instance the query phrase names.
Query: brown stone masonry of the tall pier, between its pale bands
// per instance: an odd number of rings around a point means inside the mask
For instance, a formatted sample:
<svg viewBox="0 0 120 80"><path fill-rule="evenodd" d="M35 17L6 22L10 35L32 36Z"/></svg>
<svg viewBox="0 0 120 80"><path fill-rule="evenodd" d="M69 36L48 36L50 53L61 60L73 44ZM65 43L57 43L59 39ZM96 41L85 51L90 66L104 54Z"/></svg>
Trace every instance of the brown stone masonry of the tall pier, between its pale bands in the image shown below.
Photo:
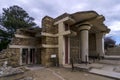
<svg viewBox="0 0 120 80"><path fill-rule="evenodd" d="M49 34L57 34L58 27L54 26L54 19L48 16L44 17L42 20L42 32L49 33ZM50 36L43 36L42 37L42 44L45 45L58 45L58 38L57 37L50 37ZM43 48L41 51L42 55L42 64L45 66L51 66L53 64L51 60L51 55L55 54L58 55L58 48Z"/></svg>

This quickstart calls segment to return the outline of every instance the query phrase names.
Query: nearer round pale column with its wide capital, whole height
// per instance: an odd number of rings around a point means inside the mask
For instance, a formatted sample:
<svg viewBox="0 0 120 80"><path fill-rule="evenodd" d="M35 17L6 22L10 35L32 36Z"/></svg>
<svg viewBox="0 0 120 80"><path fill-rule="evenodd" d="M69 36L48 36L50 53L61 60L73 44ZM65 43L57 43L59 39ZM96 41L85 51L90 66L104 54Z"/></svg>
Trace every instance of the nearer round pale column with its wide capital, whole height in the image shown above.
<svg viewBox="0 0 120 80"><path fill-rule="evenodd" d="M81 51L80 51L80 54L81 54L81 58L82 58L82 62L88 62L89 59L88 59L88 35L89 35L89 32L88 30L90 29L91 27L89 25L82 25L79 27L79 30L80 30L80 46L81 46Z"/></svg>

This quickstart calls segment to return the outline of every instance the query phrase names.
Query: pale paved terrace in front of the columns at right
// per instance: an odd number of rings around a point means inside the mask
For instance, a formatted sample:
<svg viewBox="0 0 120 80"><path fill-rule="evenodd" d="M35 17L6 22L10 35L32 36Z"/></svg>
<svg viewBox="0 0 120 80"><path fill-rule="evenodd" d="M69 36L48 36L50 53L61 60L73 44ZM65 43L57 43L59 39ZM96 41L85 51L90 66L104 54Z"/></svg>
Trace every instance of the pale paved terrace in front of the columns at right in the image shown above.
<svg viewBox="0 0 120 80"><path fill-rule="evenodd" d="M75 69L85 70L90 73L120 79L120 60L100 60L92 64L74 64ZM65 65L66 68L71 68L71 65Z"/></svg>

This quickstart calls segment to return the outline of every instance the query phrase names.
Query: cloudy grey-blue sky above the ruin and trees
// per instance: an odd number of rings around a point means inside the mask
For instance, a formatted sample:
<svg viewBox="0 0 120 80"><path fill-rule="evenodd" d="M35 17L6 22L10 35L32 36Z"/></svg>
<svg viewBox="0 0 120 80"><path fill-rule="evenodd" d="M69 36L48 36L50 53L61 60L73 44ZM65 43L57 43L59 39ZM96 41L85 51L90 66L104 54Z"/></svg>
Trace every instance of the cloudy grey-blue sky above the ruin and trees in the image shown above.
<svg viewBox="0 0 120 80"><path fill-rule="evenodd" d="M22 7L39 26L46 15L55 18L64 12L94 10L105 16L104 23L111 29L109 36L120 43L120 0L0 0L0 14L2 8L13 5Z"/></svg>

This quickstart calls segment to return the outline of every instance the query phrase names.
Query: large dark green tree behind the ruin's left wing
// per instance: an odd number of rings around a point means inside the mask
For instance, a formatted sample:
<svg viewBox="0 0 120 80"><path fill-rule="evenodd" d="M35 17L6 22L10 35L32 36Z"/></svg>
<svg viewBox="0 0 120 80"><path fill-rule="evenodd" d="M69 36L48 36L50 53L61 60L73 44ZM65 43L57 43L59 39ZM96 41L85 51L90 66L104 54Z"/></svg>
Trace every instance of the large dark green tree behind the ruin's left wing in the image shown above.
<svg viewBox="0 0 120 80"><path fill-rule="evenodd" d="M0 51L7 47L17 29L36 27L34 18L17 5L3 8L3 13L0 15L0 25L6 28L3 30L0 27Z"/></svg>

